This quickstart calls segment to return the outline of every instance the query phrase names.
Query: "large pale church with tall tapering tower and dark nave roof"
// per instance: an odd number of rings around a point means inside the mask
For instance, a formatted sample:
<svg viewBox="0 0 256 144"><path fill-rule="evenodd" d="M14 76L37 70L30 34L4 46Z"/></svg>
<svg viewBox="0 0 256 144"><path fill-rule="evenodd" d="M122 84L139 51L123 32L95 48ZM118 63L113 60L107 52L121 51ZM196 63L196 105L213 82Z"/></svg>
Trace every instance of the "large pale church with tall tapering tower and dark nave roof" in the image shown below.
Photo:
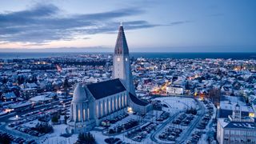
<svg viewBox="0 0 256 144"><path fill-rule="evenodd" d="M146 114L152 106L136 97L126 37L123 27L119 26L113 79L84 86L77 84L71 101L68 129L70 133L91 130L103 120L124 114L127 109Z"/></svg>

